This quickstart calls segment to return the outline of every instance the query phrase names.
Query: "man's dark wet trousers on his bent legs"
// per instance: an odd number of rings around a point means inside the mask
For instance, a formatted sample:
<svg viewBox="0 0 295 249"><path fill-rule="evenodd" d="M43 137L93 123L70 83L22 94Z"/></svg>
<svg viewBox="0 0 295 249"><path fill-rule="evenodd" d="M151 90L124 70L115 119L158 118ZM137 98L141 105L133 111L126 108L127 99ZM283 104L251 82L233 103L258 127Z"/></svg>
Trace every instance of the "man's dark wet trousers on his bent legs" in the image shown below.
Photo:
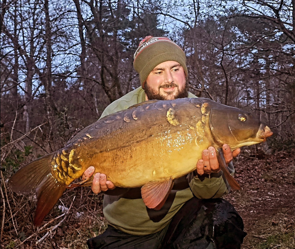
<svg viewBox="0 0 295 249"><path fill-rule="evenodd" d="M222 198L192 198L168 227L150 235L130 235L109 226L87 241L89 249L240 249L246 233L235 208Z"/></svg>

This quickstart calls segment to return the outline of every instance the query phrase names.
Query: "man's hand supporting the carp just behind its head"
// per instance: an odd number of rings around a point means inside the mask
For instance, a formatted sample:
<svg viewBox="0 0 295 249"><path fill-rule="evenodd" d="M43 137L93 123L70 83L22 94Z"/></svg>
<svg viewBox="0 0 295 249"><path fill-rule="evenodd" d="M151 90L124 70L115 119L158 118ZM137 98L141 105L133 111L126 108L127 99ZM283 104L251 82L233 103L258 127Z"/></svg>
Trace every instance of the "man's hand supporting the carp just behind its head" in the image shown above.
<svg viewBox="0 0 295 249"><path fill-rule="evenodd" d="M232 161L232 158L236 157L241 151L240 149L235 149L231 152L230 147L227 144L222 146L222 150L227 165ZM219 170L220 167L214 147L204 149L202 152L202 159L197 162L197 173L203 175L218 172Z"/></svg>

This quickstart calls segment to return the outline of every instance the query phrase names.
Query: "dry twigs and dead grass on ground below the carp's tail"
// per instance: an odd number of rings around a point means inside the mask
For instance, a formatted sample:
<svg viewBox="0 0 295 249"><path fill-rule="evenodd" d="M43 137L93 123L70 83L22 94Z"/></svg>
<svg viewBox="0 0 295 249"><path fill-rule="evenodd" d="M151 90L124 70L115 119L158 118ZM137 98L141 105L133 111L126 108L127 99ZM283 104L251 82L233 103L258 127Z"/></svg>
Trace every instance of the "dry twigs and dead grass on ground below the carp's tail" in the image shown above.
<svg viewBox="0 0 295 249"><path fill-rule="evenodd" d="M34 227L36 198L12 193L1 179L1 248L87 248L86 240L106 228L102 196L89 188L67 191Z"/></svg>

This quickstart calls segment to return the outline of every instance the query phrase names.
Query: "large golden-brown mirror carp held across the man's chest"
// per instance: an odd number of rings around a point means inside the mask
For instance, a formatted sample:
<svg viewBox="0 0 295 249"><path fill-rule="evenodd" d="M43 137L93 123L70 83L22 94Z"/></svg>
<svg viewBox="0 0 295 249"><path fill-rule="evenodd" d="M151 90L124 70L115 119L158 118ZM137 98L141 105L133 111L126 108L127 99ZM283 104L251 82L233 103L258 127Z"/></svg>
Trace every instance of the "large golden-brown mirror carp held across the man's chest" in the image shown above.
<svg viewBox="0 0 295 249"><path fill-rule="evenodd" d="M37 226L89 166L115 186L142 187L145 205L160 209L173 179L196 170L209 146L216 148L230 186L240 189L222 160L222 145L235 150L272 134L249 112L209 99L150 100L87 126L62 149L19 169L9 186L17 193L36 193Z"/></svg>

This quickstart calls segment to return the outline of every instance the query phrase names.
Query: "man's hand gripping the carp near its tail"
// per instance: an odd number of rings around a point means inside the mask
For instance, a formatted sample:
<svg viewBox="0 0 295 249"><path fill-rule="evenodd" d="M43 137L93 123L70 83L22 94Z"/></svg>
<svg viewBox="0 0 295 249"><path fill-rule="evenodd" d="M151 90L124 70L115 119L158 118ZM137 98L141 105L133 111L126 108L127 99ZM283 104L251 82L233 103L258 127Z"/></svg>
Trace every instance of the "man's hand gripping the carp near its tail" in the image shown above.
<svg viewBox="0 0 295 249"><path fill-rule="evenodd" d="M89 177L91 177L94 173L95 168L93 166L90 166L84 171L84 174L82 175L82 180L86 180ZM101 191L107 191L109 189L114 189L115 185L109 180L106 180L106 175L101 173L95 173L93 176L93 182L91 189L93 193L98 194Z"/></svg>

